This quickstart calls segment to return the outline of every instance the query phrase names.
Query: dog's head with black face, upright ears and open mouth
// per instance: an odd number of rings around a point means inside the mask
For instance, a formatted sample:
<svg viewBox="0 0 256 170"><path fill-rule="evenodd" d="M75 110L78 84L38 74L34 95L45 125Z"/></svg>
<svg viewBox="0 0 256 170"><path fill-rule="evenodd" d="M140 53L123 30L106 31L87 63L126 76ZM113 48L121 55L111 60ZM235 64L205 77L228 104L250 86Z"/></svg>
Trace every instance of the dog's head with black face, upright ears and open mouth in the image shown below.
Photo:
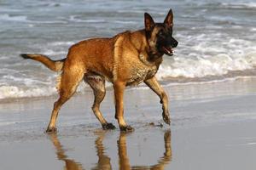
<svg viewBox="0 0 256 170"><path fill-rule="evenodd" d="M177 40L172 37L173 14L172 9L166 15L163 23L154 23L150 14L144 14L146 37L153 54L172 56L172 48L177 47Z"/></svg>

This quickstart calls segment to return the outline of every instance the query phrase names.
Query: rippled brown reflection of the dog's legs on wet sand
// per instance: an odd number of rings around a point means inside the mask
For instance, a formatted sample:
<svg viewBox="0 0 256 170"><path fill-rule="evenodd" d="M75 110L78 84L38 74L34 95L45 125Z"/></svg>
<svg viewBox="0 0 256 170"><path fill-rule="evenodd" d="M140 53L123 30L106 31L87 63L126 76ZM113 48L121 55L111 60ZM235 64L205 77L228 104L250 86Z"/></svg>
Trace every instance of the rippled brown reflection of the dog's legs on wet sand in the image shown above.
<svg viewBox="0 0 256 170"><path fill-rule="evenodd" d="M105 136L105 132L99 133L98 135L99 136L95 141L98 162L96 164L96 167L93 167L92 169L94 169L94 170L112 169L112 166L110 163L110 158L105 154L105 148L104 148L104 145L102 144L102 141ZM130 165L129 157L127 155L127 148L126 148L126 136L127 136L127 133L120 133L119 140L117 141L118 155L119 155L119 169L121 169L121 170L128 170L128 169L160 170L160 169L164 169L165 165L168 164L172 160L171 131L166 131L166 133L164 135L165 152L164 152L163 156L160 158L160 160L158 161L158 163L153 166L131 166ZM79 162L69 159L65 155L65 150L63 149L63 147L55 133L49 134L49 137L55 146L58 159L61 161L65 161L64 169L67 169L67 170L84 169Z"/></svg>

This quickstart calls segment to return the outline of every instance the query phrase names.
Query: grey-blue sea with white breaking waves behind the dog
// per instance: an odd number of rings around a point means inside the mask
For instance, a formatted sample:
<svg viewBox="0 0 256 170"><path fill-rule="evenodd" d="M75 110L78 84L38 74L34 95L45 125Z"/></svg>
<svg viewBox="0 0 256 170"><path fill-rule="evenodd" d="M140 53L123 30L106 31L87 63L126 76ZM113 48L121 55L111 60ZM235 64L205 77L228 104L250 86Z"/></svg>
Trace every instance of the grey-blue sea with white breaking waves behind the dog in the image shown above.
<svg viewBox="0 0 256 170"><path fill-rule="evenodd" d="M179 45L164 56L162 84L256 77L255 0L8 0L0 1L0 100L56 94L58 75L19 54L62 59L73 43L142 29L144 12L162 22L170 8Z"/></svg>

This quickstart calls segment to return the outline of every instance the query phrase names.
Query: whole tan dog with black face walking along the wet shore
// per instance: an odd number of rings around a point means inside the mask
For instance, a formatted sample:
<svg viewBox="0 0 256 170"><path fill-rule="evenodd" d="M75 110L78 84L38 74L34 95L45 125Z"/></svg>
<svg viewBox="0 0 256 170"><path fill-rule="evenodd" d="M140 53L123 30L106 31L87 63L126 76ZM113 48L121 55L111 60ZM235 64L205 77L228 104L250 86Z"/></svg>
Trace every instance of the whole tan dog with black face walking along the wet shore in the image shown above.
<svg viewBox="0 0 256 170"><path fill-rule="evenodd" d="M171 56L177 41L172 37L172 9L163 23L154 23L150 14L144 14L145 28L139 31L124 31L111 38L93 38L74 44L67 58L52 60L42 54L20 54L24 59L34 59L52 71L62 71L58 85L60 97L55 102L46 132L55 132L58 112L72 97L79 82L84 79L93 89L92 106L96 118L104 129L115 128L102 116L100 104L105 97L105 80L113 83L115 118L121 131L132 131L124 120L123 96L126 86L145 82L160 97L163 120L170 124L168 99L154 75L159 69L163 55Z"/></svg>

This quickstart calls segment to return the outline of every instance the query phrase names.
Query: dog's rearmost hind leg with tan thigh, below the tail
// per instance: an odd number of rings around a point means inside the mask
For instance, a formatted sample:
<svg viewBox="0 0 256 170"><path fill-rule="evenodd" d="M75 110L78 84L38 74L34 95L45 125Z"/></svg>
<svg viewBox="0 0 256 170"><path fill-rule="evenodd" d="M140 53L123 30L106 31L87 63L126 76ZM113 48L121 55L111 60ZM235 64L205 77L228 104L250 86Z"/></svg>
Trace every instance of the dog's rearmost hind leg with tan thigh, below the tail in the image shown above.
<svg viewBox="0 0 256 170"><path fill-rule="evenodd" d="M54 109L50 117L49 126L46 130L47 133L56 131L55 122L61 109L61 105L63 105L68 99L72 97L83 77L84 69L81 69L79 65L71 65L69 68L66 70L64 69L62 72L61 86L59 91L60 98L55 102Z"/></svg>

